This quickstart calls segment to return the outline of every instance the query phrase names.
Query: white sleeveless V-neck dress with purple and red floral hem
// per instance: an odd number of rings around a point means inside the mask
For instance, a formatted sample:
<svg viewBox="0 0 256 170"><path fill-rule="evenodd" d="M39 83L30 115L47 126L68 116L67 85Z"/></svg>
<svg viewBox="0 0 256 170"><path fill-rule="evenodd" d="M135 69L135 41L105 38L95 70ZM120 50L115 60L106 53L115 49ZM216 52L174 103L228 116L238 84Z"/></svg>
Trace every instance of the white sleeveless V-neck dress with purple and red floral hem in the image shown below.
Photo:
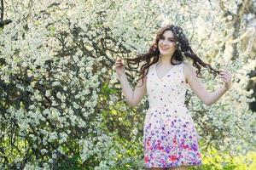
<svg viewBox="0 0 256 170"><path fill-rule="evenodd" d="M145 167L201 165L199 135L184 105L184 62L173 65L162 78L157 76L155 65L150 65L146 76L149 108L143 126Z"/></svg>

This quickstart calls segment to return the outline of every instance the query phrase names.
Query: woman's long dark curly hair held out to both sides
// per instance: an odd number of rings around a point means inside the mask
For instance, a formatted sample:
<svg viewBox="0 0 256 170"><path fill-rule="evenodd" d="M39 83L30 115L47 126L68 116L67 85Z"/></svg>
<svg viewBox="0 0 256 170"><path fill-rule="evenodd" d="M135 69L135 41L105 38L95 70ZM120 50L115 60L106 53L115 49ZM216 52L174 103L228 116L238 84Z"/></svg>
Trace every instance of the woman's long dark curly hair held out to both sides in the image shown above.
<svg viewBox="0 0 256 170"><path fill-rule="evenodd" d="M150 46L146 54L138 54L137 57L134 59L129 59L129 58L125 59L127 61L127 65L129 69L131 69L130 65L137 65L136 68L138 68L139 64L141 62L144 62L144 64L140 69L141 77L138 80L146 77L146 75L148 74L148 68L150 67L150 65L154 65L160 59L160 50L158 48L158 42L160 41L160 38L163 36L165 31L172 31L174 36L174 41L176 44L176 50L174 54L172 54L172 58L171 58L172 65L179 65L179 64L173 63L172 61L173 58L176 59L177 61L183 61L183 57L188 57L193 60L192 65L197 68L197 71L195 71L196 77L201 78L201 66L206 67L208 69L208 72L213 74L214 78L217 76L217 74L220 73L220 71L213 69L211 65L203 62L193 52L192 48L189 46L189 40L183 34L183 29L181 27L174 26L174 25L167 25L167 26L161 27L160 30L157 32L157 35L154 39L154 43ZM145 73L145 70L147 70L146 73Z"/></svg>

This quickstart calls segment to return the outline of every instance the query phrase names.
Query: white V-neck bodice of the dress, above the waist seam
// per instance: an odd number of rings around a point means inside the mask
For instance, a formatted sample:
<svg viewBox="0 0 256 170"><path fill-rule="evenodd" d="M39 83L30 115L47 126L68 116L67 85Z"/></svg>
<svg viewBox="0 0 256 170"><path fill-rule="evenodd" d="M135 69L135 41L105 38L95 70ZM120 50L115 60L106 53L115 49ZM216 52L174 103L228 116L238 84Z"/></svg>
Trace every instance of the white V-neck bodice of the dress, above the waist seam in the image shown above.
<svg viewBox="0 0 256 170"><path fill-rule="evenodd" d="M187 84L183 76L184 62L173 65L164 77L158 77L156 64L148 69L147 94L149 108L183 106Z"/></svg>

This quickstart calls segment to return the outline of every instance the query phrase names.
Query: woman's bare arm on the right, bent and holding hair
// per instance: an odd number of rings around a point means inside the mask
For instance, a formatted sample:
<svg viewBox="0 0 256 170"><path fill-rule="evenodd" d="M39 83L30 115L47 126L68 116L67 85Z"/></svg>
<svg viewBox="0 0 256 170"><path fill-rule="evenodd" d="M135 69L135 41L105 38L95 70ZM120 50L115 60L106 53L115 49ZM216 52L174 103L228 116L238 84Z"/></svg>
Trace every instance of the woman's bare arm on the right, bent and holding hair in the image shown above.
<svg viewBox="0 0 256 170"><path fill-rule="evenodd" d="M209 93L200 82L200 79L196 77L193 66L187 62L185 62L184 65L184 77L186 78L186 82L189 83L189 87L206 105L214 104L231 86L230 73L228 71L221 71L220 78L224 81L224 85L215 92Z"/></svg>

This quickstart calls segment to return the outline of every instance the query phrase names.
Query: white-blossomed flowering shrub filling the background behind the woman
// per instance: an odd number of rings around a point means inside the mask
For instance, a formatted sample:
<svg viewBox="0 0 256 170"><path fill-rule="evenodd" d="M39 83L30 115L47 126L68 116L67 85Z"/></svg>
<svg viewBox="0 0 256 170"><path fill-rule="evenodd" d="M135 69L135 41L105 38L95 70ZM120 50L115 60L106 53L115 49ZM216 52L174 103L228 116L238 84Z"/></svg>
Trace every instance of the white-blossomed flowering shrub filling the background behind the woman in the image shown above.
<svg viewBox="0 0 256 170"><path fill-rule="evenodd" d="M236 13L230 1L224 5ZM137 110L124 105L111 69L116 57L147 51L155 31L167 22L182 26L202 59L216 68L227 66L234 77L233 87L215 105L202 105L188 91L201 146L213 144L232 153L252 150L256 119L248 110L253 91L246 85L255 66L249 55L255 34L241 21L234 39L232 18L225 19L219 10L218 3L207 1L7 4L13 22L0 37L0 167L143 168L140 142L147 100ZM137 71L129 73L137 76ZM219 87L220 81L205 77L209 90ZM130 81L133 86L137 82Z"/></svg>

